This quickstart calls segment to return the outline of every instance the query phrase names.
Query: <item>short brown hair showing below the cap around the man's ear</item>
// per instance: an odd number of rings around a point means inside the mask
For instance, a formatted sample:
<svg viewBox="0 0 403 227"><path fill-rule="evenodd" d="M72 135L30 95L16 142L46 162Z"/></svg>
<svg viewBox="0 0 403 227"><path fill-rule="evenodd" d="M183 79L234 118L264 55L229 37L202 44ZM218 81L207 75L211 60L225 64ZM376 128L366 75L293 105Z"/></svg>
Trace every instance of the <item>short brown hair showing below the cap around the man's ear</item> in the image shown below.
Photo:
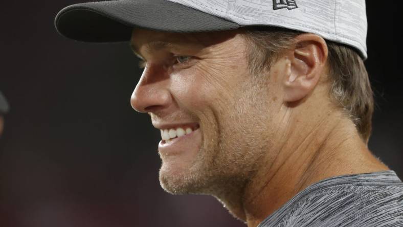
<svg viewBox="0 0 403 227"><path fill-rule="evenodd" d="M288 29L250 27L248 60L251 75L268 70L283 50L292 48L294 38L302 34ZM326 40L328 48L330 94L355 124L365 143L371 134L374 101L364 62L355 49Z"/></svg>

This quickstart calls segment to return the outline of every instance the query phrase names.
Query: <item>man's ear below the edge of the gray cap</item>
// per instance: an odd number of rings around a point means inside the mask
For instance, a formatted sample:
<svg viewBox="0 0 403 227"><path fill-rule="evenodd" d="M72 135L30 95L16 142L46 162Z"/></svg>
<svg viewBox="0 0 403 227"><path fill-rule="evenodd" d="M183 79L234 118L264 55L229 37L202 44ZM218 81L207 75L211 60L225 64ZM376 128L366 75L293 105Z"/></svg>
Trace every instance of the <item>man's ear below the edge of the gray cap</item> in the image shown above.
<svg viewBox="0 0 403 227"><path fill-rule="evenodd" d="M299 35L294 47L287 54L284 102L296 102L309 95L318 84L327 60L326 42L318 35Z"/></svg>

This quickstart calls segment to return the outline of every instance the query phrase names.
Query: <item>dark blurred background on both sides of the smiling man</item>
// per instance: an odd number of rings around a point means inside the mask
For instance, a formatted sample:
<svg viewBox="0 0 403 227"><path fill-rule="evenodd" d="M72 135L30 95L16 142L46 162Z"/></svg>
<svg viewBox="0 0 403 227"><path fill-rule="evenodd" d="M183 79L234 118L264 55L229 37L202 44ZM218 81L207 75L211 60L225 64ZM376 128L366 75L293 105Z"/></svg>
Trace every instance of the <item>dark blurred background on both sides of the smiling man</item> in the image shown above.
<svg viewBox="0 0 403 227"><path fill-rule="evenodd" d="M0 226L244 226L209 196L158 181L160 132L131 109L140 78L127 43L61 37L79 0L4 1L0 90L11 106L0 147ZM403 177L398 1L367 1L366 61L377 107L373 153Z"/></svg>

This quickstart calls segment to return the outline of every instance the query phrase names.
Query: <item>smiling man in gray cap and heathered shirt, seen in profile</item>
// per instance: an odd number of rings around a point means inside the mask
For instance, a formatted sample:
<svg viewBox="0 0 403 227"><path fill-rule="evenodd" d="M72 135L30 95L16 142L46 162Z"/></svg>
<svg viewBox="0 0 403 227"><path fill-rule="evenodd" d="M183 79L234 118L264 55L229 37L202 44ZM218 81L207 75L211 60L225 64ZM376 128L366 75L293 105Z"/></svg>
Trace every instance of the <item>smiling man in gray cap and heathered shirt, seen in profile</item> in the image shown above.
<svg viewBox="0 0 403 227"><path fill-rule="evenodd" d="M121 0L56 17L66 37L130 42L161 186L248 226L403 224L403 183L367 146L366 26L361 0Z"/></svg>

